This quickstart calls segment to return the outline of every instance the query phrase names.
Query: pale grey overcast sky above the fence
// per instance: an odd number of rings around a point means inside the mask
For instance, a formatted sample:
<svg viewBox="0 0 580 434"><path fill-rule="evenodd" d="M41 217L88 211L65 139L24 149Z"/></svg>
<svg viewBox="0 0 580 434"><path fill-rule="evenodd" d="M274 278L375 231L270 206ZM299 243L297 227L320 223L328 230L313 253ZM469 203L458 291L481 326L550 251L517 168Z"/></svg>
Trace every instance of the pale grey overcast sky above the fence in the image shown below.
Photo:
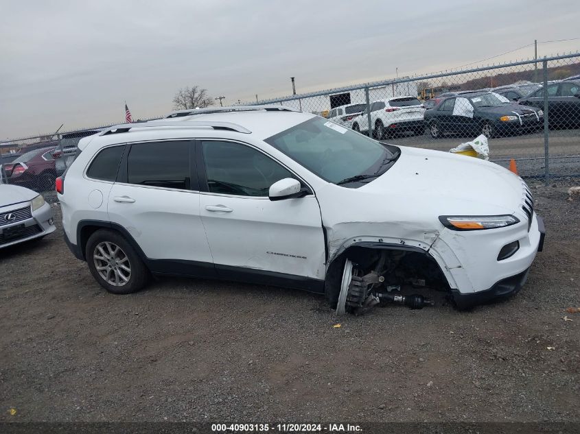
<svg viewBox="0 0 580 434"><path fill-rule="evenodd" d="M459 67L580 37L577 0L0 0L0 139ZM580 51L544 43L540 56ZM533 47L489 62L533 56ZM488 62L484 62L487 64Z"/></svg>

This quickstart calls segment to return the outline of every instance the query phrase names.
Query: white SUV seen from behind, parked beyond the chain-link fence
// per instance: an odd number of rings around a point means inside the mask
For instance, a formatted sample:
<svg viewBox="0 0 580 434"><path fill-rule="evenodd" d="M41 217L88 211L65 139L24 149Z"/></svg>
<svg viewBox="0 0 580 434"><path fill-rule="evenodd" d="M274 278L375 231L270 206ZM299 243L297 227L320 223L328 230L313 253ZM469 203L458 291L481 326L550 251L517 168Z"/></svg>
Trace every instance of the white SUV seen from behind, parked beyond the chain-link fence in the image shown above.
<svg viewBox="0 0 580 434"><path fill-rule="evenodd" d="M379 140L402 132L422 136L425 132L425 107L416 97L379 99L371 104L371 134ZM369 135L366 108L353 119L352 129Z"/></svg>

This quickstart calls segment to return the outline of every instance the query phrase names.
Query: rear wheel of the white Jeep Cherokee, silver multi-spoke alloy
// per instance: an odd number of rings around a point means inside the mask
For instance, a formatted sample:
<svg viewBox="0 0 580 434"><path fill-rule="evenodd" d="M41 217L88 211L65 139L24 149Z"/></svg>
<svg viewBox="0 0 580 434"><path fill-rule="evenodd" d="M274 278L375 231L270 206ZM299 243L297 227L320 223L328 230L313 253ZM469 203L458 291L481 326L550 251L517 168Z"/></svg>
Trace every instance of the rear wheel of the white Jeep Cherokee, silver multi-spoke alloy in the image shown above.
<svg viewBox="0 0 580 434"><path fill-rule="evenodd" d="M149 280L149 270L119 232L94 232L85 249L86 263L99 285L114 294L139 291Z"/></svg>

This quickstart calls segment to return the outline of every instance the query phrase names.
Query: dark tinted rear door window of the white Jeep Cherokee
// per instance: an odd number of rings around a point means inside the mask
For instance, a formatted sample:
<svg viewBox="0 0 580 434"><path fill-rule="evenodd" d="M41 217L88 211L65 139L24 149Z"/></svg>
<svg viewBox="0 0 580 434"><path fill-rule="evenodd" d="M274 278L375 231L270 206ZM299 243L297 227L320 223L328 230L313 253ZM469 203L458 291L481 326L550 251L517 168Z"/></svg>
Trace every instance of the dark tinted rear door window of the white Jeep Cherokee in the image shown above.
<svg viewBox="0 0 580 434"><path fill-rule="evenodd" d="M191 189L190 143L135 143L127 157L129 184Z"/></svg>

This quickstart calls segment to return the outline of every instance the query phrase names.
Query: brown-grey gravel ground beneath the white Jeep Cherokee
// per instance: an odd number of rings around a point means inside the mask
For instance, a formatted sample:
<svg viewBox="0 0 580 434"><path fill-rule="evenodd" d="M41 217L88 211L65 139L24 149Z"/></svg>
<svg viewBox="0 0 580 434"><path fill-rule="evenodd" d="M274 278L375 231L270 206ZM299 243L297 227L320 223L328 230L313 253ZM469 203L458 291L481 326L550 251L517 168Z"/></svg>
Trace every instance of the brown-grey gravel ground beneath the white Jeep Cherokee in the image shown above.
<svg viewBox="0 0 580 434"><path fill-rule="evenodd" d="M579 421L580 202L532 188L528 283L467 313L339 320L308 293L178 278L113 296L60 227L0 250L0 421Z"/></svg>

